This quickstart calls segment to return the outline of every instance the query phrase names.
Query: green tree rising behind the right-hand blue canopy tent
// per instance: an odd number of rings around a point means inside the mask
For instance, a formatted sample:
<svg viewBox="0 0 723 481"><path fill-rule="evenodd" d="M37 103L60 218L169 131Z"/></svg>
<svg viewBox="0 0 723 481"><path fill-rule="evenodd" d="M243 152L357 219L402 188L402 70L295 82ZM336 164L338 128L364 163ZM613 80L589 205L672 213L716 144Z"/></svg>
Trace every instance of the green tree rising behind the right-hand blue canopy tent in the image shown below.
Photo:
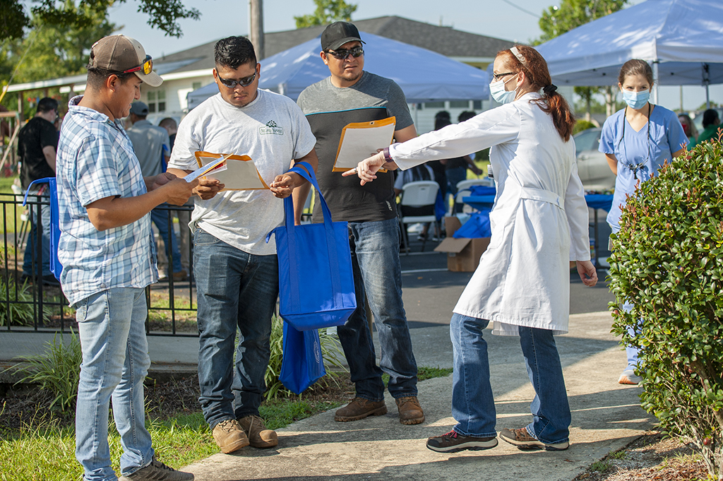
<svg viewBox="0 0 723 481"><path fill-rule="evenodd" d="M539 21L542 36L534 43L537 45L547 42L557 37L557 35L562 35L562 33L609 15L612 12L617 12L626 4L628 4L628 0L562 0L559 7L557 5L548 7L542 12L542 18ZM610 87L607 87L607 89L612 90ZM590 119L593 95L603 91L603 88L596 87L575 88L575 93L580 95L586 105L586 119ZM607 110L610 110L609 107Z"/></svg>

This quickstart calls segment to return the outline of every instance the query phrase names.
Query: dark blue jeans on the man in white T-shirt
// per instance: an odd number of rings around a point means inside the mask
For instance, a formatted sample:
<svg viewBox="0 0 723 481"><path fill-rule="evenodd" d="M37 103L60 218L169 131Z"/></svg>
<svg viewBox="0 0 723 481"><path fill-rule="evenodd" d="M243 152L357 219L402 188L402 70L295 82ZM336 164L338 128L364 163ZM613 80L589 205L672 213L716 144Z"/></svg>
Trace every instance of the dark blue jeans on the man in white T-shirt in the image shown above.
<svg viewBox="0 0 723 481"><path fill-rule="evenodd" d="M278 297L276 255L252 255L202 229L194 233L198 289L199 401L210 427L258 415ZM236 348L236 329L241 332Z"/></svg>

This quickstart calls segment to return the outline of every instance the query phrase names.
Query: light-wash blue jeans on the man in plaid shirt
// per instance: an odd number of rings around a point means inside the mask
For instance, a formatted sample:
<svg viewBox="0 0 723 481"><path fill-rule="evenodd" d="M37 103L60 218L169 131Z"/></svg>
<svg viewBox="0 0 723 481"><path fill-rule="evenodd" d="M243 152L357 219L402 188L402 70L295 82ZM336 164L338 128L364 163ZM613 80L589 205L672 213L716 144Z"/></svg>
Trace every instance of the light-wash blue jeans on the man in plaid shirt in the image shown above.
<svg viewBox="0 0 723 481"><path fill-rule="evenodd" d="M75 407L75 457L86 481L113 481L108 450L108 408L121 435L121 474L150 464L143 380L150 367L145 338L145 290L114 288L74 305L83 362Z"/></svg>

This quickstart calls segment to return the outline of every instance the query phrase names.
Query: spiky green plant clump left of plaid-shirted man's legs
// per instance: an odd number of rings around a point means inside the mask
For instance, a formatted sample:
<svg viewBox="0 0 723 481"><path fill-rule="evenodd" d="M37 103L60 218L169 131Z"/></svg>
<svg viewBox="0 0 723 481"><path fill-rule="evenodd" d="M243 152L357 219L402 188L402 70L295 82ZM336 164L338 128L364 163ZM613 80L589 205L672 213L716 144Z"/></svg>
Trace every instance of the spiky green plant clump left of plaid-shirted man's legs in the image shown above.
<svg viewBox="0 0 723 481"><path fill-rule="evenodd" d="M70 343L66 346L63 334L53 336L53 341L47 343L44 354L24 357L24 366L20 372L25 373L20 383L39 384L40 388L53 394L50 407L57 406L62 411L71 409L78 394L78 380L80 379L80 362L83 355L80 350L80 340L71 331Z"/></svg>

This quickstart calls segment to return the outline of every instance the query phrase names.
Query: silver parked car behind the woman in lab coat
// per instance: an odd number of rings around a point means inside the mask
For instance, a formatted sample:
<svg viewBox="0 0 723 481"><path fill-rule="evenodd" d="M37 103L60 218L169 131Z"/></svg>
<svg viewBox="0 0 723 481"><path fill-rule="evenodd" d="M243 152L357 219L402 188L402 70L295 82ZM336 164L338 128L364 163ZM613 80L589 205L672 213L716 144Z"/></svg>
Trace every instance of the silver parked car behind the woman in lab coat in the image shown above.
<svg viewBox="0 0 723 481"><path fill-rule="evenodd" d="M605 154L597 149L602 129L583 130L573 135L578 173L585 190L610 190L615 188L615 174L610 170Z"/></svg>

